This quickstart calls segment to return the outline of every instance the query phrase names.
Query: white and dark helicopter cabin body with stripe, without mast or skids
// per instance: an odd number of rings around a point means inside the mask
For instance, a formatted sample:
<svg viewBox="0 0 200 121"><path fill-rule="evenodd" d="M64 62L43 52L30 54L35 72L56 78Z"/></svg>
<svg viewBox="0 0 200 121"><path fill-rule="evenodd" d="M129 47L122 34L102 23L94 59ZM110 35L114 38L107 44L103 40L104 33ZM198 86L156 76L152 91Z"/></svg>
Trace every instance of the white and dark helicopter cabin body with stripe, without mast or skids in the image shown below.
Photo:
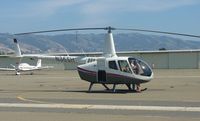
<svg viewBox="0 0 200 121"><path fill-rule="evenodd" d="M138 64L137 68L132 67L133 61ZM81 79L91 83L141 84L153 78L152 69L147 63L131 57L100 57L77 68Z"/></svg>

